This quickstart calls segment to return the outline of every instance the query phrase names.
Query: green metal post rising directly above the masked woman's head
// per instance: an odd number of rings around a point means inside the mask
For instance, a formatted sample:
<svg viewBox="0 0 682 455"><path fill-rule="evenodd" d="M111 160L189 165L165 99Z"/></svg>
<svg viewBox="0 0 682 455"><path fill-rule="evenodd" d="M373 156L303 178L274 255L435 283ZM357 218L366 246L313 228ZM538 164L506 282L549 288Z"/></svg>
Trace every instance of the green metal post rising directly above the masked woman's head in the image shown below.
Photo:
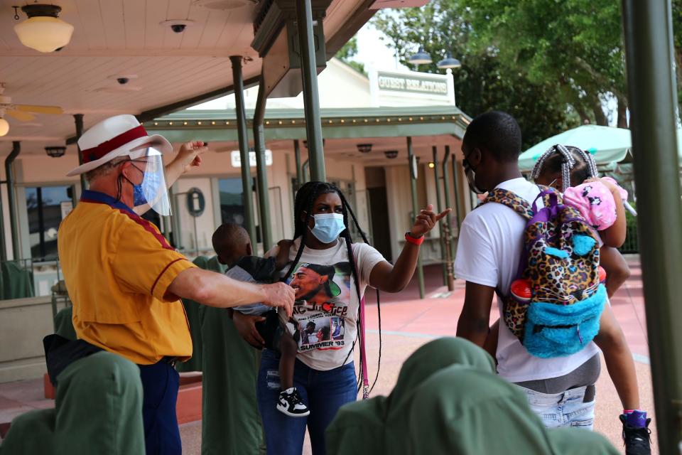
<svg viewBox="0 0 682 455"><path fill-rule="evenodd" d="M313 9L310 0L296 0L296 23L298 43L301 46L301 76L303 77L303 107L305 132L308 137L310 178L327 181L325 151L322 142L322 119L320 118L320 95L318 71L315 60L315 36L313 35ZM324 41L320 43L324 45Z"/></svg>

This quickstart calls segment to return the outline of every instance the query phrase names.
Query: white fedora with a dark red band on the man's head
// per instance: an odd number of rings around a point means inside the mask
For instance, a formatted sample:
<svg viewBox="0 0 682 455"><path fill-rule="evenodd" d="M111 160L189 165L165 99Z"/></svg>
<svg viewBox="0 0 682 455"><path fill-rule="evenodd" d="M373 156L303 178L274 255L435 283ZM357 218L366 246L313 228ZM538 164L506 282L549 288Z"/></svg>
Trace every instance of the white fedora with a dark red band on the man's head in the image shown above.
<svg viewBox="0 0 682 455"><path fill-rule="evenodd" d="M83 164L72 169L67 176L92 171L102 164L119 156L139 158L133 149L150 144L162 154L173 151L168 139L158 134L147 135L144 127L137 119L128 114L114 115L94 125L78 139L78 148L83 156ZM144 154L144 151L142 151Z"/></svg>

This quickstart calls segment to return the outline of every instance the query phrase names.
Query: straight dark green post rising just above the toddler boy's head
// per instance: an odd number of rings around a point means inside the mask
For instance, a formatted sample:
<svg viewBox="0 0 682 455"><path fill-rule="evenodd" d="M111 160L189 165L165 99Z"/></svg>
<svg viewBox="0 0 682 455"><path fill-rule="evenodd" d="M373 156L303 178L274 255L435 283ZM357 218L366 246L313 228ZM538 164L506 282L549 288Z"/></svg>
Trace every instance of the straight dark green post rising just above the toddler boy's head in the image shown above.
<svg viewBox="0 0 682 455"><path fill-rule="evenodd" d="M242 159L242 193L244 202L245 228L251 237L251 245L257 245L256 223L254 222L253 181L249 160L249 135L247 133L247 112L244 108L244 78L242 77L242 57L232 55L232 80L234 81L234 102L237 110L237 134L239 136L239 157Z"/></svg>

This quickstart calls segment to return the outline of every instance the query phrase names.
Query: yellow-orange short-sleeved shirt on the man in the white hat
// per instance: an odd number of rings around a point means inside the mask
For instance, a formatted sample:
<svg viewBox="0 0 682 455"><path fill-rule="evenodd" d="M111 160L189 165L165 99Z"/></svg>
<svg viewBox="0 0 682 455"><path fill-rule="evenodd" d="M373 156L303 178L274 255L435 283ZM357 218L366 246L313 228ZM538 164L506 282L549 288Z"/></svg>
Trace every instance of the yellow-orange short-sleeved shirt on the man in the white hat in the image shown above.
<svg viewBox="0 0 682 455"><path fill-rule="evenodd" d="M78 338L141 365L191 357L185 309L168 286L195 265L155 225L110 196L84 191L57 243Z"/></svg>

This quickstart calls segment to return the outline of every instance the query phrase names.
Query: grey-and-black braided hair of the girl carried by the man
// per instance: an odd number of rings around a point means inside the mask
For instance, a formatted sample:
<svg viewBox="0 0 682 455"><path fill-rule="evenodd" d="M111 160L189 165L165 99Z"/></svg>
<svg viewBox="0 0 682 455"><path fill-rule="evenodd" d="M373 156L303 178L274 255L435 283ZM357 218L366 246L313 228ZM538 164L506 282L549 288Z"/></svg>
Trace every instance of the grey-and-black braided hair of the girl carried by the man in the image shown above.
<svg viewBox="0 0 682 455"><path fill-rule="evenodd" d="M552 175L561 172L562 193L569 186L578 186L588 178L599 176L592 154L575 146L561 144L551 146L540 156L531 176L536 179L545 172Z"/></svg>

